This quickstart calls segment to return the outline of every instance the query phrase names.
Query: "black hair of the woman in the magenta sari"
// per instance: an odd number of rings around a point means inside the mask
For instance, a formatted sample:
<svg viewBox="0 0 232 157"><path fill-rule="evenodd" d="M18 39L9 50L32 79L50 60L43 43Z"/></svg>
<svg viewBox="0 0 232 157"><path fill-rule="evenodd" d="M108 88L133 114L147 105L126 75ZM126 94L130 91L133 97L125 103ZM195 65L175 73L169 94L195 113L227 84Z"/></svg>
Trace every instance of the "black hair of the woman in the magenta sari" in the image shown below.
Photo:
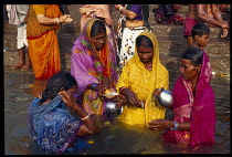
<svg viewBox="0 0 232 157"><path fill-rule="evenodd" d="M203 51L199 48L189 46L182 54L182 59L190 60L191 63L197 66L202 64Z"/></svg>

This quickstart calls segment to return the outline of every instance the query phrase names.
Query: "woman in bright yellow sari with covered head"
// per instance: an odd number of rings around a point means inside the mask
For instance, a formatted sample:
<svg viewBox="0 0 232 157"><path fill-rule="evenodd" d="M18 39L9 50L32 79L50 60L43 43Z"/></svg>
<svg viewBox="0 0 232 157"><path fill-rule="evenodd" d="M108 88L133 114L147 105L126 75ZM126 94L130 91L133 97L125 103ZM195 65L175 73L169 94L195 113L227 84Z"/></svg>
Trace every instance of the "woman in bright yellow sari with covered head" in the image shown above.
<svg viewBox="0 0 232 157"><path fill-rule="evenodd" d="M137 36L135 52L116 85L119 94L127 98L118 121L145 126L154 118L165 118L166 108L156 102L154 91L168 90L169 73L159 61L159 45L152 32L141 32Z"/></svg>

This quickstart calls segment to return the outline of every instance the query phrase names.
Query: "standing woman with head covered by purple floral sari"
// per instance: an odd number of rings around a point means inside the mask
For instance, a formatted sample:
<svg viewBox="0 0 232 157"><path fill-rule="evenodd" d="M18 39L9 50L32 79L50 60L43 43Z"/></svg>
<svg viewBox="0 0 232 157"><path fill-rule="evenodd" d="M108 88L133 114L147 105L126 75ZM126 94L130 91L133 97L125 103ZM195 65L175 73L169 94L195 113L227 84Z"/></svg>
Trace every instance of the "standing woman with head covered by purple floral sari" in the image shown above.
<svg viewBox="0 0 232 157"><path fill-rule="evenodd" d="M88 114L104 115L106 88L115 88L116 53L113 50L102 20L91 19L72 49L71 74L75 77Z"/></svg>

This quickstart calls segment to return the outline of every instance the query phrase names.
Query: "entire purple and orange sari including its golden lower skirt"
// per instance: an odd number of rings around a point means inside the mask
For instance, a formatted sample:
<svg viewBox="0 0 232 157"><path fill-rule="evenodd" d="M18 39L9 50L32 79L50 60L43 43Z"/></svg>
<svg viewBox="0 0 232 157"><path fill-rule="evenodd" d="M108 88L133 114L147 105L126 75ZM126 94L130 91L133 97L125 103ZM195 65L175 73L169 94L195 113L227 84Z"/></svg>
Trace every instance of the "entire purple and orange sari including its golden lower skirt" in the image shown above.
<svg viewBox="0 0 232 157"><path fill-rule="evenodd" d="M101 83L103 75L108 75L112 87L116 86L118 74L116 72L116 54L106 36L106 43L96 51L91 42L91 29L98 19L86 22L83 31L72 49L71 74L75 77L85 109L91 114L103 114L106 100L101 98L96 91L86 90L89 84Z"/></svg>

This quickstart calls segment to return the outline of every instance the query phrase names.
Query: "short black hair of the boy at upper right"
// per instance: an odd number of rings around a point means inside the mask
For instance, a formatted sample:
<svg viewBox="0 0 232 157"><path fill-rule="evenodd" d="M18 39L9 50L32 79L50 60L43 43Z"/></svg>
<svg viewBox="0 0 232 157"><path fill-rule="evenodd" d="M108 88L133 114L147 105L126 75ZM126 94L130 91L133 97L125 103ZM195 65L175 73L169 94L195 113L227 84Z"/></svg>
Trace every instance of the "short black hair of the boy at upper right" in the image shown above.
<svg viewBox="0 0 232 157"><path fill-rule="evenodd" d="M202 36L204 34L210 34L210 28L207 24L198 23L192 28L192 39L194 39L196 35Z"/></svg>

